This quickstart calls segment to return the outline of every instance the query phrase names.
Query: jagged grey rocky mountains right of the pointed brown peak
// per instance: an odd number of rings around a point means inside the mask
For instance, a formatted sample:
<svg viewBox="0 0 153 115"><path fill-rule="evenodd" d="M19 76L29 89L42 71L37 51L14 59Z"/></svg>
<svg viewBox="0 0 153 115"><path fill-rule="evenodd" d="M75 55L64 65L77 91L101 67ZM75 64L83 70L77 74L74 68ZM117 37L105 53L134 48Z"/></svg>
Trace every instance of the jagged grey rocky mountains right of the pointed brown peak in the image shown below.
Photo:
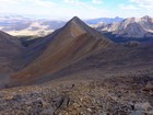
<svg viewBox="0 0 153 115"><path fill-rule="evenodd" d="M144 38L153 39L153 19L148 15L140 19L129 18L118 23L99 25L95 28L116 39L119 37L122 41L129 38L134 38L136 41L143 41Z"/></svg>

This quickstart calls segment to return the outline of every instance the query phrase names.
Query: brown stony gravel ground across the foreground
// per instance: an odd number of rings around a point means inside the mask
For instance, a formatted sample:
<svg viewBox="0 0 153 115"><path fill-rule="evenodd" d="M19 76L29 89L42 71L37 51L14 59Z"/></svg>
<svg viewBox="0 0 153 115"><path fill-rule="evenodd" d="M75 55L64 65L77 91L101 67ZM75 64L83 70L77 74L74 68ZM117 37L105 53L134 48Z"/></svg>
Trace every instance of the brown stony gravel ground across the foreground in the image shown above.
<svg viewBox="0 0 153 115"><path fill-rule="evenodd" d="M119 77L3 89L0 115L153 115L152 81Z"/></svg>

